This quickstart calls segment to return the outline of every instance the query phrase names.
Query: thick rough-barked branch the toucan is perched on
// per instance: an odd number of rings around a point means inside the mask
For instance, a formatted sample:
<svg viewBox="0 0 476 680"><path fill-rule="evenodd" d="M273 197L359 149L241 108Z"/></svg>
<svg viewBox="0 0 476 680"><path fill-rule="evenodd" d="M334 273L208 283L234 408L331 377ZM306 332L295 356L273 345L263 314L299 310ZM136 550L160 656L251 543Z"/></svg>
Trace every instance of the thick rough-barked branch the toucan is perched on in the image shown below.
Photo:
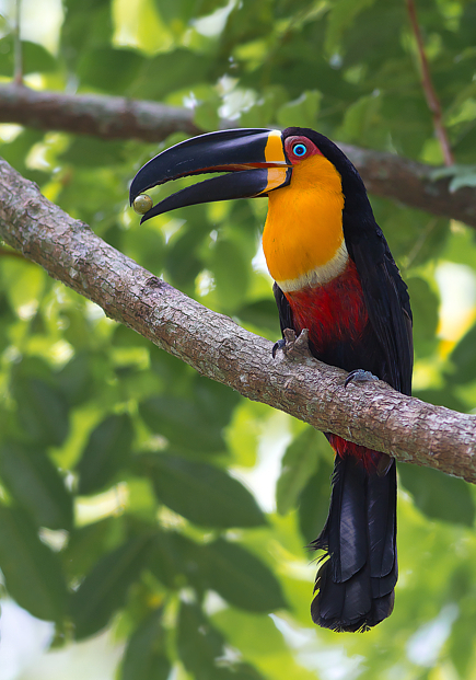
<svg viewBox="0 0 476 680"><path fill-rule="evenodd" d="M44 198L0 160L0 237L115 321L248 399L346 439L476 482L476 416L383 382L344 388L345 371L271 357L271 343L152 276Z"/></svg>

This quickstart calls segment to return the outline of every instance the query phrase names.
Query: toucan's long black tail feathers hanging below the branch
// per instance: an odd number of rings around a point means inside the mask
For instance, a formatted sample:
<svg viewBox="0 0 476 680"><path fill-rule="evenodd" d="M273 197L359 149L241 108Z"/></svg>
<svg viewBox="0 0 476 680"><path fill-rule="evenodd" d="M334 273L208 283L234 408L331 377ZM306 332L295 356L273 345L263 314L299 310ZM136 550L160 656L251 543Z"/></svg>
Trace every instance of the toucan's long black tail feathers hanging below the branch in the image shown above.
<svg viewBox="0 0 476 680"><path fill-rule="evenodd" d="M314 623L364 631L392 613L397 580L396 470L385 475L336 456L326 525L312 543L327 551L311 606Z"/></svg>

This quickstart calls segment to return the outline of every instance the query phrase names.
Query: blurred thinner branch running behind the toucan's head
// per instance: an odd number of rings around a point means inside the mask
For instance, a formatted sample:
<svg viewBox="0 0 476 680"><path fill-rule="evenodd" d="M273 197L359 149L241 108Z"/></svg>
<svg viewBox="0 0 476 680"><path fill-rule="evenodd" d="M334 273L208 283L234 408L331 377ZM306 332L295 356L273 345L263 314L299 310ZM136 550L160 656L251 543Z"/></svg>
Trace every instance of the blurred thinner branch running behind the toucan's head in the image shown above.
<svg viewBox="0 0 476 680"><path fill-rule="evenodd" d="M162 141L171 132L198 135L204 131L194 124L194 112L188 108L118 96L36 92L15 84L0 85L0 123L151 142ZM222 123L222 127L232 125L227 120ZM463 187L451 193L451 178L431 180L432 165L392 153L339 146L373 194L476 227L476 188Z"/></svg>

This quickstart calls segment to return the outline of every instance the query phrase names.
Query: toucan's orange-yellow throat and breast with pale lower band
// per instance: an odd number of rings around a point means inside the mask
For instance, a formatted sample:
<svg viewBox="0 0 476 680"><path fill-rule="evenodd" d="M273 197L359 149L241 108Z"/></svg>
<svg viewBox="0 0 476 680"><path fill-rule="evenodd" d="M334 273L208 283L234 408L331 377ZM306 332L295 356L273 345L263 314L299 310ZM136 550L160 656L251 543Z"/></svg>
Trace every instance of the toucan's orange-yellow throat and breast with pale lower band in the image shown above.
<svg viewBox="0 0 476 680"><path fill-rule="evenodd" d="M315 155L292 170L289 186L269 193L263 247L285 292L326 284L348 263L340 175Z"/></svg>

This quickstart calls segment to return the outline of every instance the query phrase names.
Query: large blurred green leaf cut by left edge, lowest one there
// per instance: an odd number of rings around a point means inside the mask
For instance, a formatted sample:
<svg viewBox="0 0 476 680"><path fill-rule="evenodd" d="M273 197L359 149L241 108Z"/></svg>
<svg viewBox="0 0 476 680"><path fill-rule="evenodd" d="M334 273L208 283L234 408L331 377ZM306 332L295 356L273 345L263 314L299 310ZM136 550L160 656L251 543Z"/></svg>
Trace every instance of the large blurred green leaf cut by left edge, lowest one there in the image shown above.
<svg viewBox="0 0 476 680"><path fill-rule="evenodd" d="M37 619L61 621L67 591L58 556L42 543L25 512L1 505L0 568L21 607Z"/></svg>

